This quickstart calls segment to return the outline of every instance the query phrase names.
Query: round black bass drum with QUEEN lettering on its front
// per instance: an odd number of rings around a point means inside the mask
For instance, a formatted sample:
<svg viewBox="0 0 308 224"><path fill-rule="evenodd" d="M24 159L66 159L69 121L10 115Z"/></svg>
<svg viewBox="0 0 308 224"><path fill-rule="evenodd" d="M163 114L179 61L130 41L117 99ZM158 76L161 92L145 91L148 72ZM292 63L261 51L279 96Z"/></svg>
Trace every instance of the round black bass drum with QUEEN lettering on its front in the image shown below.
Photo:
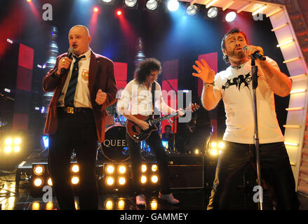
<svg viewBox="0 0 308 224"><path fill-rule="evenodd" d="M126 127L119 124L108 127L105 132L105 141L101 146L102 155L105 155L111 162L125 162L128 160Z"/></svg>

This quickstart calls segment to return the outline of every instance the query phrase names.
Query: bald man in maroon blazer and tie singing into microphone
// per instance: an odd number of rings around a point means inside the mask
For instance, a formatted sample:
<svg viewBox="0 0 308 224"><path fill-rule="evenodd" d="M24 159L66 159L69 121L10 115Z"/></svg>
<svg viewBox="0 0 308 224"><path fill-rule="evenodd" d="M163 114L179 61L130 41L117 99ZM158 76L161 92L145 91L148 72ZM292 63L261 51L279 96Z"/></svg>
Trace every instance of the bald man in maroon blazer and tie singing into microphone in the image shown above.
<svg viewBox="0 0 308 224"><path fill-rule="evenodd" d="M43 78L44 92L55 91L44 133L49 135L48 164L60 209L75 209L69 171L73 149L79 164L80 209L98 209L96 150L105 139L105 109L116 101L116 81L113 62L95 54L90 42L86 27L72 27L73 57L58 56Z"/></svg>

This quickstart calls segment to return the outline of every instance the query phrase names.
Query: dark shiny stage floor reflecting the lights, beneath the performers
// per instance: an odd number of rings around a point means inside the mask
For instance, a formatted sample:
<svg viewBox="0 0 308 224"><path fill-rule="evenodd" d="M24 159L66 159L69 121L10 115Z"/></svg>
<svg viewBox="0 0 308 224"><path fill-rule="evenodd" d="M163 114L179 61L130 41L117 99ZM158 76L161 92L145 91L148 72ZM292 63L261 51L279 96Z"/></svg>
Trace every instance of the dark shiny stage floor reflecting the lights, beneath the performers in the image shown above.
<svg viewBox="0 0 308 224"><path fill-rule="evenodd" d="M34 157L37 158L37 157ZM41 159L39 159L41 160ZM35 161L35 160L34 160ZM38 162L38 161L35 161ZM16 190L16 170L6 172L0 170L0 206L2 210L58 210L58 203L55 197L52 202L43 202L42 197L32 197L29 193L29 180L21 178L18 190ZM193 211L206 210L210 188L199 189L173 189L173 195L180 200L180 204L171 205L168 202L159 200L158 191L145 193L147 204L145 207L138 207L135 204L135 195L129 192L104 192L100 189L99 209L100 210L168 210L168 211ZM232 199L234 210L257 210L257 204L251 200L252 193L246 188L239 188ZM300 210L308 210L307 195L298 194ZM79 209L78 197L75 197L76 209ZM267 190L264 192L264 209L272 210L272 202L269 200Z"/></svg>

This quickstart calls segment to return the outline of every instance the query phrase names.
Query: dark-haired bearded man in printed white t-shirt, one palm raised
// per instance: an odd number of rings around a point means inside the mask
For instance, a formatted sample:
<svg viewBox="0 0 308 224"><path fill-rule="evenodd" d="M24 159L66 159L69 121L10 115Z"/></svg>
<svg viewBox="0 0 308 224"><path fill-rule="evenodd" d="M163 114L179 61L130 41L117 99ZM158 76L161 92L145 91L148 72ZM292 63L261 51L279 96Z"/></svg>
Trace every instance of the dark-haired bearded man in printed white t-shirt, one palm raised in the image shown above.
<svg viewBox="0 0 308 224"><path fill-rule="evenodd" d="M246 45L247 49L243 50ZM221 43L224 59L229 62L225 71L215 72L201 59L193 68L193 76L203 80L202 103L207 110L225 104L226 125L223 140L225 151L217 162L215 181L208 209L228 209L230 195L236 189L236 179L243 176L251 163L255 165L254 104L251 76L251 55L260 46L248 45L246 35L237 28L231 29ZM255 59L257 73L257 127L260 139L260 166L276 209L298 209L295 181L290 167L283 134L276 119L274 94L286 97L292 82L282 73L274 60ZM253 166L255 167L255 166Z"/></svg>

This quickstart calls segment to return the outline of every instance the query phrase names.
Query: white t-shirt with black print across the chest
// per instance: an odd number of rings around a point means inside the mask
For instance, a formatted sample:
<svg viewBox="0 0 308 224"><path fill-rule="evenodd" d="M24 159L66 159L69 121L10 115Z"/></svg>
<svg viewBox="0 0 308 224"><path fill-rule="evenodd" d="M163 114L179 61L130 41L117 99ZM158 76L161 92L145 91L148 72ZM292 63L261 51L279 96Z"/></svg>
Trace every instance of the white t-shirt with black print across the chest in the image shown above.
<svg viewBox="0 0 308 224"><path fill-rule="evenodd" d="M276 62L267 57L276 69ZM229 66L215 76L214 89L220 90L225 104L226 125L223 139L241 144L254 144L255 120L253 112L253 80L251 60L241 69ZM257 123L260 144L284 141L276 118L274 92L267 84L260 66L257 78Z"/></svg>

